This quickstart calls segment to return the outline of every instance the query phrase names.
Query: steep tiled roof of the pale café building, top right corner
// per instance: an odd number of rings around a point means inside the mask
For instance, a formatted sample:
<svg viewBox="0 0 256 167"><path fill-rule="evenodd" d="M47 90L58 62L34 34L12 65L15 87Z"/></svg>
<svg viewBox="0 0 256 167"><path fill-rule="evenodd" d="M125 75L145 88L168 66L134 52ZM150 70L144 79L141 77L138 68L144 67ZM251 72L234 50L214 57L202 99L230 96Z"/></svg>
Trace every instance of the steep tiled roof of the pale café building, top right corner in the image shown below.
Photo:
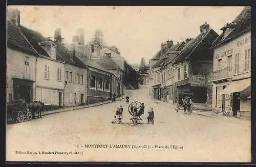
<svg viewBox="0 0 256 167"><path fill-rule="evenodd" d="M239 15L232 21L232 23L237 23L236 27L234 27L233 31L224 39L223 33L212 43L212 47L216 46L217 44L221 42L226 42L233 37L239 35L241 32L250 29L251 27L251 8L250 7L245 7Z"/></svg>

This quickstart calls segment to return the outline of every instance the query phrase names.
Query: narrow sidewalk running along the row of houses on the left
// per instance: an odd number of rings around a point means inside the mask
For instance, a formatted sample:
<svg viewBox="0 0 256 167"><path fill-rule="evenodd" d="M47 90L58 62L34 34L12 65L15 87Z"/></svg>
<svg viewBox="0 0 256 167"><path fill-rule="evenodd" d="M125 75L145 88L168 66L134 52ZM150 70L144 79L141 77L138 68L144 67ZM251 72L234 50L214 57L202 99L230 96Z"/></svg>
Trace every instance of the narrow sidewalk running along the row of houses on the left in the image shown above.
<svg viewBox="0 0 256 167"><path fill-rule="evenodd" d="M116 98L116 101L124 99L126 96L118 97ZM94 107L98 105L103 105L103 104L108 104L114 102L113 100L108 100L108 101L103 101L99 103L93 103L89 105L82 105L82 106L75 106L75 107L68 107L68 108L61 108L61 109L56 109L56 110L50 110L47 112L42 112L42 116L50 115L50 114L56 114L56 113L62 113L62 112L69 112L71 110L76 110L76 109L82 109L82 108L89 108L89 107Z"/></svg>

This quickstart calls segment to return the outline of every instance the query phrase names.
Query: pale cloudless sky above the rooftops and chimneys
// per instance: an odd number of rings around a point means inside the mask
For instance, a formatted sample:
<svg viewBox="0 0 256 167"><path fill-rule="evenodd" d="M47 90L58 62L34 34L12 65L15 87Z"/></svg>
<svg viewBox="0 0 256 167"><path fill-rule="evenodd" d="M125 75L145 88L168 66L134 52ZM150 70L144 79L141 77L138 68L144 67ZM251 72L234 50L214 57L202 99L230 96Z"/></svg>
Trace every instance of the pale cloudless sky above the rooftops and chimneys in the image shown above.
<svg viewBox="0 0 256 167"><path fill-rule="evenodd" d="M81 27L89 42L96 30L103 32L109 46L115 45L130 64L146 62L159 51L161 42L174 44L195 38L199 26L207 22L219 35L221 27L231 22L244 7L153 7L153 6L9 6L20 10L20 24L54 36L61 29L65 43Z"/></svg>

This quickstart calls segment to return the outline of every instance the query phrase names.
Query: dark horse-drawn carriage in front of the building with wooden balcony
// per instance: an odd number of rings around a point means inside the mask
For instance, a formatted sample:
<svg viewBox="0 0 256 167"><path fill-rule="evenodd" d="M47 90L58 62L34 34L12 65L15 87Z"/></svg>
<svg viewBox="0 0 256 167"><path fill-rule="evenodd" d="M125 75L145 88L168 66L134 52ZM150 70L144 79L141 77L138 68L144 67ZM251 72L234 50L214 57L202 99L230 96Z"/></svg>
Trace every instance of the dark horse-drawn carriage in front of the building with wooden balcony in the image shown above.
<svg viewBox="0 0 256 167"><path fill-rule="evenodd" d="M184 109L184 114L191 114L193 112L193 103L193 93L191 91L179 91L177 113L179 109Z"/></svg>

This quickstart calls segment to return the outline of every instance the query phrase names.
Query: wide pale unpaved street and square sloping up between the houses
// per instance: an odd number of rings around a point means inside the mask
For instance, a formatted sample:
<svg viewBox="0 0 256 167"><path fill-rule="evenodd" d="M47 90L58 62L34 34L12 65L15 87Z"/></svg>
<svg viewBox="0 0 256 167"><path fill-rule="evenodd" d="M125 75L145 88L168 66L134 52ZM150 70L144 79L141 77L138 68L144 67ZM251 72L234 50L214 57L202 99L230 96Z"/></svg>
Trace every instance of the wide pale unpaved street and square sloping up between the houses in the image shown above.
<svg viewBox="0 0 256 167"><path fill-rule="evenodd" d="M197 115L178 114L171 104L155 103L147 86L131 90L130 103L145 103L155 111L155 124L111 124L118 106L124 107L123 122L131 123L125 99L110 104L44 116L29 122L10 124L6 129L7 160L15 161L171 161L171 162L248 162L250 124L228 122ZM84 144L136 145L154 148L77 148ZM158 145L158 146L156 146ZM167 149L171 145L175 149ZM35 151L19 154L16 151ZM78 151L82 155L40 154L38 151Z"/></svg>

